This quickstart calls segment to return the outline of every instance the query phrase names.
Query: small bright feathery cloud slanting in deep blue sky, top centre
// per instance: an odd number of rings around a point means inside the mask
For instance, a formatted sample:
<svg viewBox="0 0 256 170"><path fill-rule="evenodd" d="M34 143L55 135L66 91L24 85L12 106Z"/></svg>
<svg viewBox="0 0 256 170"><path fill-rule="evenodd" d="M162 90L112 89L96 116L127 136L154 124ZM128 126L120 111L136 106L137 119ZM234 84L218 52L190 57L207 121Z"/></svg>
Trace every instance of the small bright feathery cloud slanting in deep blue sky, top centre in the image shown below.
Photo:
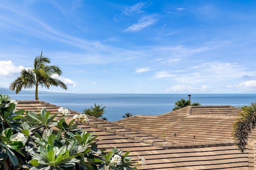
<svg viewBox="0 0 256 170"><path fill-rule="evenodd" d="M140 18L138 23L131 25L125 31L126 32L140 31L146 27L149 27L150 25L154 25L156 21L158 21L158 18L156 17L156 15L144 16Z"/></svg>

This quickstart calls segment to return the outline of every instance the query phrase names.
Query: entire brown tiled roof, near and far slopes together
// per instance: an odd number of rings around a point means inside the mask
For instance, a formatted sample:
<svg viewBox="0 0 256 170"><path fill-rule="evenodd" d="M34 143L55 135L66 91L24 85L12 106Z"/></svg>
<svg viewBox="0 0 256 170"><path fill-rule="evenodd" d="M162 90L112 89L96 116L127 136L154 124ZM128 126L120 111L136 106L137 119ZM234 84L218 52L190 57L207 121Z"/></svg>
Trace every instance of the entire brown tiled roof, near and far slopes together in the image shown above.
<svg viewBox="0 0 256 170"><path fill-rule="evenodd" d="M35 112L42 108L57 113L59 106L42 101L20 101L17 106ZM248 152L240 153L230 137L235 115L240 111L230 106L193 106L116 122L89 117L89 122L79 127L99 135L99 148L131 151L134 160L137 155L144 157L146 165L142 170L250 170L256 167L256 142L250 141Z"/></svg>

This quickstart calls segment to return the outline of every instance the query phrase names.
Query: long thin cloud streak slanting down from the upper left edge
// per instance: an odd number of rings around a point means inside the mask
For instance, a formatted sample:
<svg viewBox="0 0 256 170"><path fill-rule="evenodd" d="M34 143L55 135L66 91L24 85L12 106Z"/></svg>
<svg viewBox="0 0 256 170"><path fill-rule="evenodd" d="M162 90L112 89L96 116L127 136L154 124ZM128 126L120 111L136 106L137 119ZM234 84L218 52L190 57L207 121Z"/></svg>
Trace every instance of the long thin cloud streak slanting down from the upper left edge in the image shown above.
<svg viewBox="0 0 256 170"><path fill-rule="evenodd" d="M15 31L31 35L34 37L38 37L40 39L49 39L58 41L61 43L70 44L76 47L80 47L81 49L106 49L104 48L104 45L97 41L86 41L85 39L80 39L78 37L74 37L71 35L68 35L66 33L62 33L61 31L57 31L53 29L50 25L44 23L44 21L41 21L40 19L37 19L36 17L32 17L29 14L23 13L19 10L16 10L14 8L10 8L8 6L4 6L0 4L0 9L6 10L6 12L10 12L10 16L1 16L0 21L4 20L2 22L2 27L6 27L7 29L14 29ZM19 16L19 17L16 17ZM20 22L18 18L22 16L23 22ZM24 24L26 23L26 24Z"/></svg>

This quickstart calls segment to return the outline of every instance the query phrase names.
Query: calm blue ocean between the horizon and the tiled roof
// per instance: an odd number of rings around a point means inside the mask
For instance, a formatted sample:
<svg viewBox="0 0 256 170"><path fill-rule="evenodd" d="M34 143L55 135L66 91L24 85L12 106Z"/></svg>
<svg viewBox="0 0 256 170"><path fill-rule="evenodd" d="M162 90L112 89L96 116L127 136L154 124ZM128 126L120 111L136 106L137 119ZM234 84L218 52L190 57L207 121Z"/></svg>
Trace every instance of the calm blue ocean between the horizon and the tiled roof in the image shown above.
<svg viewBox="0 0 256 170"><path fill-rule="evenodd" d="M34 94L10 94L15 100L34 100ZM172 111L174 103L181 98L188 100L188 94L38 94L41 101L82 112L94 107L105 107L104 117L108 121L122 119L125 113L132 115L159 115ZM230 105L240 107L256 102L256 94L191 94L191 102L202 106Z"/></svg>

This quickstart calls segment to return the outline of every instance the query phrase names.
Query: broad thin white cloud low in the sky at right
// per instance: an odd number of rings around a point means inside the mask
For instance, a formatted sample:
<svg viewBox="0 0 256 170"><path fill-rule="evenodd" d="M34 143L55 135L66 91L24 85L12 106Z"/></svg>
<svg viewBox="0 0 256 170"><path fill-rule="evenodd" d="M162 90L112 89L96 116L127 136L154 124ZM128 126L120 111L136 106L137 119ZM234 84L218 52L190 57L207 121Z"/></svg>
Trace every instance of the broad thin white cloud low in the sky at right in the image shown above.
<svg viewBox="0 0 256 170"><path fill-rule="evenodd" d="M237 63L207 62L184 68L184 70L158 71L152 77L153 79L170 78L174 83L182 84L211 84L243 78L244 75L254 76L256 72L249 71ZM246 82L239 86L249 85L254 85L254 81Z"/></svg>

